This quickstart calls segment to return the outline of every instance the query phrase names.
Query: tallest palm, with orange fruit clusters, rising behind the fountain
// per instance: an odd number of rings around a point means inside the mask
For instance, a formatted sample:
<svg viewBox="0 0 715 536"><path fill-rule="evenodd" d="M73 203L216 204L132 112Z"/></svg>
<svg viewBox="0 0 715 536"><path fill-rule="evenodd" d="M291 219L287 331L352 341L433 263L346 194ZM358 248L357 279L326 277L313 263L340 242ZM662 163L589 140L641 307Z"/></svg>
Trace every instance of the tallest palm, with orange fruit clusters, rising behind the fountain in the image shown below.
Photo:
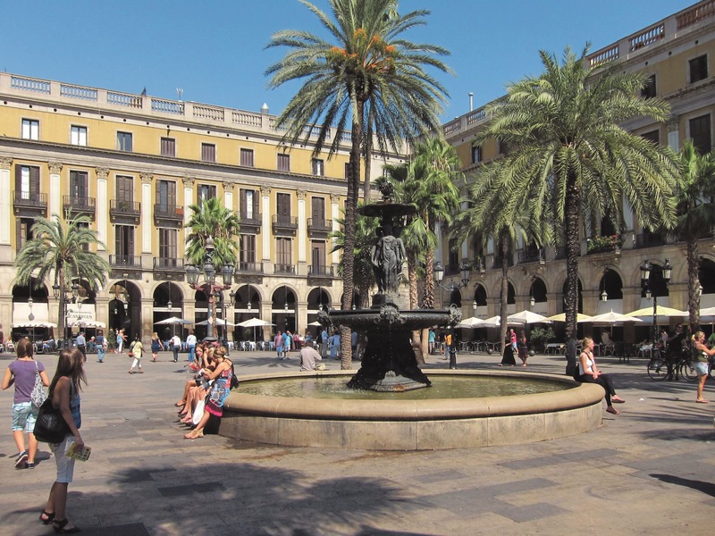
<svg viewBox="0 0 715 536"><path fill-rule="evenodd" d="M360 180L363 127L369 103L370 126L381 151L399 150L403 139L440 127L441 103L447 92L425 67L449 71L437 58L448 54L439 46L416 44L402 37L425 24L427 11L396 13L395 0L329 0L332 18L314 4L303 4L315 14L332 42L307 31L273 34L269 47L287 46L290 52L268 68L270 88L303 80L303 86L276 121L287 129L291 146L305 143L310 125L320 125L314 155L332 136L329 156L335 155L350 129L348 192L345 204L342 308L352 306L355 217ZM367 129L370 130L370 129ZM302 141L301 141L302 140ZM341 329L341 368L351 367L350 331Z"/></svg>

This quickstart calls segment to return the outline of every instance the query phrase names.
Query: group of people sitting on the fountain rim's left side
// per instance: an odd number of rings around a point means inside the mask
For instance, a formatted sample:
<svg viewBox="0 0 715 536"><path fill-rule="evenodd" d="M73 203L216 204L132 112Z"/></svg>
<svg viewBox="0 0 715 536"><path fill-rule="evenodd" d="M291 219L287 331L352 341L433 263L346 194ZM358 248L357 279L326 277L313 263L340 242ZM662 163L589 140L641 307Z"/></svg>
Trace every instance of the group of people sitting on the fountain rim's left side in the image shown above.
<svg viewBox="0 0 715 536"><path fill-rule="evenodd" d="M212 415L223 415L223 403L231 392L233 363L226 356L226 348L201 343L196 347L196 360L189 362L194 372L186 382L181 400L174 406L179 408L181 423L191 431L184 439L195 440L204 437L204 428Z"/></svg>

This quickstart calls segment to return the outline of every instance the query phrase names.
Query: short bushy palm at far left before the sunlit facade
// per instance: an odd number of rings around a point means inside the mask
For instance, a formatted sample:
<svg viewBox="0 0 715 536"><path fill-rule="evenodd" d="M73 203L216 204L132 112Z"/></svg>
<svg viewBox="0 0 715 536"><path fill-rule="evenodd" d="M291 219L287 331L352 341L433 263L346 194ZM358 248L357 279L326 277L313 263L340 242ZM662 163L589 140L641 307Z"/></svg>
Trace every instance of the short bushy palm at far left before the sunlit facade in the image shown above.
<svg viewBox="0 0 715 536"><path fill-rule="evenodd" d="M38 286L52 280L53 288L61 297L57 314L57 332L64 338L64 295L72 281L87 281L89 288L97 290L106 283L109 264L90 251L89 247L105 245L97 239L97 231L90 230L87 215L63 220L58 214L52 218L40 217L32 225L32 239L15 258L16 279L20 285L29 285L34 279Z"/></svg>

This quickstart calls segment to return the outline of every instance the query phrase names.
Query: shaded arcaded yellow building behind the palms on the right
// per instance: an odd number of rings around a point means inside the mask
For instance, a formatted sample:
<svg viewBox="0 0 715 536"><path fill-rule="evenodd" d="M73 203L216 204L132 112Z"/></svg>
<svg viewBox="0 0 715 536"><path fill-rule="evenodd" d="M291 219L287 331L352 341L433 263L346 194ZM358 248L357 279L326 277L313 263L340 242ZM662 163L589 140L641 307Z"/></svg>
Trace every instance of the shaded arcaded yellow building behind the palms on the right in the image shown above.
<svg viewBox="0 0 715 536"><path fill-rule="evenodd" d="M643 95L659 96L669 102L672 113L667 123L638 119L624 125L627 130L676 151L686 138L692 138L702 154L711 151L715 115L715 2L706 0L674 13L593 52L588 61L591 65L612 61L623 71L643 72L649 77ZM475 133L488 119L485 107L480 107L443 125L444 136L456 147L467 173L500 155L496 141L473 147ZM652 300L644 297L640 267L648 260L660 273L666 259L673 266L672 279L669 285L662 282L656 285L658 304L686 309L686 243L675 236L644 229L627 204L624 212L623 232L614 230L605 219L593 229L582 226L579 311L591 315L610 310L627 313L652 306ZM593 238L597 235L618 236L612 244L596 247ZM713 247L713 230L703 230L699 243L702 306L715 306ZM467 316L485 318L499 314L502 262L511 266L509 314L530 309L549 316L564 310L566 261L563 249L542 249L518 239L511 245L509 257L501 259L492 242L482 250L469 240L450 245L447 239L442 239L436 260L447 268L447 281L450 275L453 280L459 279L459 265L463 261L474 267L471 281L462 292L463 314ZM671 324L675 322L675 318L670 320ZM647 335L647 328L623 329L624 339L635 341Z"/></svg>

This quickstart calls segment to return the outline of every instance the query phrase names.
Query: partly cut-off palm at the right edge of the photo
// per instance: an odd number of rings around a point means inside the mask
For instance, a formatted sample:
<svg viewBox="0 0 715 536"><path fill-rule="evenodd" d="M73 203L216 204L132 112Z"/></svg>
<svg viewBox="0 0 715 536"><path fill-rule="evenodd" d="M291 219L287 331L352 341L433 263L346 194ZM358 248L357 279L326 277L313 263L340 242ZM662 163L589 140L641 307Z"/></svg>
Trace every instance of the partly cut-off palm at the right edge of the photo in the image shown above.
<svg viewBox="0 0 715 536"><path fill-rule="evenodd" d="M678 153L677 227L687 242L687 308L692 332L700 329L700 265L698 239L715 225L715 155L698 155L692 139Z"/></svg>

